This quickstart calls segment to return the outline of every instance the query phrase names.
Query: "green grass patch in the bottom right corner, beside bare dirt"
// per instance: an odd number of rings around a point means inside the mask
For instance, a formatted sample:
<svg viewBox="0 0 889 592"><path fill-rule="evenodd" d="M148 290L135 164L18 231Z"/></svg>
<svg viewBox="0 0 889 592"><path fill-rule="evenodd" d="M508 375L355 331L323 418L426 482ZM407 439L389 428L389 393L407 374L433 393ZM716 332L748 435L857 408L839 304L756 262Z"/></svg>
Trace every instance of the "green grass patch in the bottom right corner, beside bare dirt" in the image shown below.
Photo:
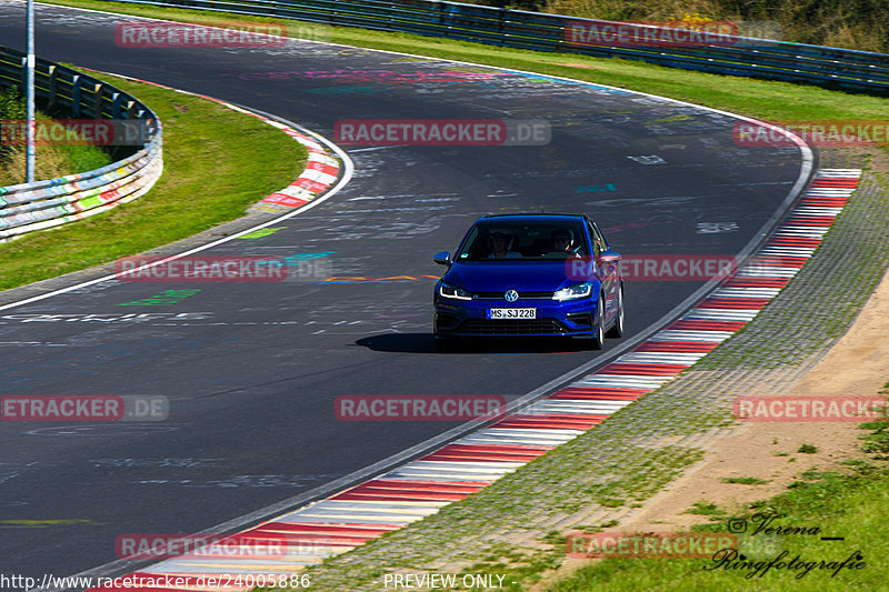
<svg viewBox="0 0 889 592"><path fill-rule="evenodd" d="M572 575L547 588L547 592L596 591L687 591L687 590L768 590L797 592L799 590L843 591L886 590L886 570L889 568L889 523L885 520L889 503L889 468L882 462L887 456L875 452L887 451L885 430L889 423L875 422L861 425L869 430L862 439L870 458L843 463L850 473L807 471L787 492L771 500L750 505L745 514L699 526L695 530L729 532L728 524L745 520L748 529L741 544L772 545L770 551L751 556L749 561L768 563L782 551L789 563L799 555L802 562L841 562L859 552L865 566L843 569L831 576L832 570L816 564L808 574L796 578L802 570L771 568L765 575L751 564L746 569L726 569L737 563L711 559L606 559L591 561ZM872 442L879 442L872 445ZM705 511L718 513L716 506L699 502ZM763 516L776 516L763 522ZM755 529L765 526L758 534ZM768 528L799 528L802 534L765 532ZM815 533L817 529L817 533ZM741 536L741 535L739 535ZM822 536L841 536L841 541L825 541ZM758 539L759 538L759 539ZM739 546L743 549L742 546ZM748 578L748 574L752 574Z"/></svg>

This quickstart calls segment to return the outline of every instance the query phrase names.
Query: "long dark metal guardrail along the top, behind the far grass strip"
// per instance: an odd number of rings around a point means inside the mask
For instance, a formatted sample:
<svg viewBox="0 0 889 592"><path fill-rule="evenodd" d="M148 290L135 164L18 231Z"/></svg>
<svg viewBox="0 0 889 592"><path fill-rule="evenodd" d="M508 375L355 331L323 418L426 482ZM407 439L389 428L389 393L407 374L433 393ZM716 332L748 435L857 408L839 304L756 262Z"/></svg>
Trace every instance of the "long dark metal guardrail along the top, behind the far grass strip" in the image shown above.
<svg viewBox="0 0 889 592"><path fill-rule="evenodd" d="M236 14L297 19L495 46L642 60L720 74L820 84L889 94L889 56L786 41L732 37L730 42L682 47L591 44L573 27L675 29L526 12L437 0L120 0ZM657 36L656 36L657 37Z"/></svg>

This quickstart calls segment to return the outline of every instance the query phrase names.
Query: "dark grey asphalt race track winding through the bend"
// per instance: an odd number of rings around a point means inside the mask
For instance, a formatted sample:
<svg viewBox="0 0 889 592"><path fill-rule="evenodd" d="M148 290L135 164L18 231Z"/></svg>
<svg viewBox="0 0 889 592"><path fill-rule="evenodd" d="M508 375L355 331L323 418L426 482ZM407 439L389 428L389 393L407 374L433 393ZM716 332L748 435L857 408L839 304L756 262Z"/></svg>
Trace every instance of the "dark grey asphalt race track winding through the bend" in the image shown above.
<svg viewBox="0 0 889 592"><path fill-rule="evenodd" d="M452 251L479 215L586 212L625 254L733 254L800 175L797 149L739 148L735 119L630 92L312 42L121 48L114 26L130 17L37 13L42 58L209 94L331 139L337 121L371 118L545 120L552 137L346 148L356 174L338 194L273 233L203 253L323 253L309 260L323 261L314 277L110 281L0 311L1 394L160 395L170 405L157 422L0 423L6 573L80 573L114 561L122 533L200 532L456 425L339 421L338 395L517 397L595 359L560 342L434 352L434 280L424 277L442 268L431 255ZM23 3L0 3L0 44L22 50L23 31ZM700 285L628 282L628 339ZM198 291L121 307L186 289Z"/></svg>

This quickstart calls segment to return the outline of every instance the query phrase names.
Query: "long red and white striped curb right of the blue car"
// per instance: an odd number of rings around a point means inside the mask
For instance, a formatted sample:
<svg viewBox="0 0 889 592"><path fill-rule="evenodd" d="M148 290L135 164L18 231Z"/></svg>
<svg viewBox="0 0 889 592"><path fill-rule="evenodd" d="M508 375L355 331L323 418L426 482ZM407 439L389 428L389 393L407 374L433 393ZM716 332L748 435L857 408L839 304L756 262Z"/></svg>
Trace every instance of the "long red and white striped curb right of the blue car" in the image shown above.
<svg viewBox="0 0 889 592"><path fill-rule="evenodd" d="M549 397L414 461L237 535L241 545L274 542L276 555L181 555L133 576L182 576L141 590L249 590L208 586L223 574L299 572L387 532L434 514L523 464L573 440L692 367L750 322L799 273L858 187L858 169L817 172L787 221L737 273L682 318L608 365ZM204 578L201 580L201 578ZM256 580L254 580L256 581ZM181 584L181 585L179 585ZM200 586L200 588L197 588ZM90 590L120 591L133 586Z"/></svg>

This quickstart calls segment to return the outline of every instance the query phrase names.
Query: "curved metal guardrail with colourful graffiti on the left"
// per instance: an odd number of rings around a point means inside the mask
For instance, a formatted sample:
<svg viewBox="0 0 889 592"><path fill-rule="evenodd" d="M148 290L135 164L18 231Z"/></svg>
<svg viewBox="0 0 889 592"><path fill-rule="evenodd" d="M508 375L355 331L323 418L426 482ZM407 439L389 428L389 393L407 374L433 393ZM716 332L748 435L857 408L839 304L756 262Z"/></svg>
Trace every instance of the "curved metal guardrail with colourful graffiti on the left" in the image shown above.
<svg viewBox="0 0 889 592"><path fill-rule="evenodd" d="M0 87L23 87L24 54L0 48ZM0 242L104 212L146 193L163 169L158 117L130 94L88 74L37 60L34 93L73 118L143 120L146 143L101 169L48 181L0 188Z"/></svg>

